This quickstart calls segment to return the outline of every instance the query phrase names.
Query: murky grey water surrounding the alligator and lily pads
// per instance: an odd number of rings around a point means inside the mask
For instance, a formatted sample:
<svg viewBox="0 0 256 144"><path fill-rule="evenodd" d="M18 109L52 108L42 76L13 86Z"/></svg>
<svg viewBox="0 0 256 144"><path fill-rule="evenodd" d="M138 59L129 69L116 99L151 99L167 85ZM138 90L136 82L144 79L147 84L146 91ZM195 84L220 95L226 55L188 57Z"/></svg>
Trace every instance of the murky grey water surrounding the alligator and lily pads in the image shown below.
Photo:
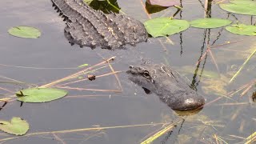
<svg viewBox="0 0 256 144"><path fill-rule="evenodd" d="M146 21L148 19L138 0L118 1L126 14ZM227 98L234 90L255 78L255 58L244 67L234 82L232 78L246 58L256 48L254 37L239 36L226 30L202 30L190 28L181 34L166 38L150 38L138 46L127 46L126 50L102 50L100 48L80 49L70 46L63 35L65 23L51 7L50 1L1 1L0 2L0 75L38 86L63 78L78 71L84 63L93 66L104 58L116 56L114 70L125 71L129 65L150 61L166 63L197 86L198 93L206 98L206 106L198 114L185 117L172 132L163 134L154 143L228 143L245 142L256 130L255 102L250 96L254 85ZM182 14L175 18L193 20L204 17L204 9L198 1L182 2ZM174 8L151 14L152 18L170 17ZM217 5L212 6L213 18L227 18L228 14ZM250 24L250 16L235 15L240 22ZM235 22L235 18L230 16ZM255 21L255 19L254 19ZM42 31L38 39L15 38L7 34L11 26L34 26ZM211 51L206 54L207 47ZM202 58L199 65L198 59ZM7 66L6 66L7 65ZM186 69L189 67L189 69ZM41 68L41 69L38 69ZM70 69L62 69L70 68ZM212 72L217 78L207 77ZM110 68L97 70L96 75L110 73ZM195 73L196 72L196 73ZM201 76L202 75L202 76ZM205 76L206 75L206 76ZM208 74L209 75L209 74ZM140 143L162 125L152 123L173 122L180 118L155 94L145 94L141 87L118 74L122 93L94 90L69 90L69 96L53 102L25 103L8 102L0 111L1 119L14 116L30 123L28 134L58 131L55 134L34 134L19 137L6 143ZM1 78L1 81L6 80ZM113 75L97 78L93 82L80 82L75 87L96 90L120 90ZM26 86L12 86L0 83L0 94L12 94ZM80 96L78 96L80 95ZM83 96L81 96L83 95ZM91 95L89 97L89 95ZM241 96L242 95L242 96ZM5 97L5 96L1 96ZM138 126L144 125L144 126ZM106 130L82 130L95 127L111 127ZM120 126L120 127L114 127ZM77 130L74 132L62 130ZM62 131L62 132L60 132ZM13 137L1 133L1 140ZM221 140L222 139L222 140Z"/></svg>

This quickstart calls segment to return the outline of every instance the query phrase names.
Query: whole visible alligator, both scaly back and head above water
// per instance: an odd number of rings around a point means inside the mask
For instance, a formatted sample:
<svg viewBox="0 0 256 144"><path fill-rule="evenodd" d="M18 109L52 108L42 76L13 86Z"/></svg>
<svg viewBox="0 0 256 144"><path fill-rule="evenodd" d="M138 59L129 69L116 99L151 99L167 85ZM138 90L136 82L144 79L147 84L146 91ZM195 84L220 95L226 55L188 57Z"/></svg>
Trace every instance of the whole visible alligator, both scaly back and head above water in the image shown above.
<svg viewBox="0 0 256 144"><path fill-rule="evenodd" d="M65 37L71 45L100 46L114 50L126 44L146 42L148 34L142 22L123 14L104 14L87 6L83 0L51 0L66 27ZM173 110L196 110L205 99L192 90L178 72L164 65L130 66L130 80L146 91L154 92Z"/></svg>

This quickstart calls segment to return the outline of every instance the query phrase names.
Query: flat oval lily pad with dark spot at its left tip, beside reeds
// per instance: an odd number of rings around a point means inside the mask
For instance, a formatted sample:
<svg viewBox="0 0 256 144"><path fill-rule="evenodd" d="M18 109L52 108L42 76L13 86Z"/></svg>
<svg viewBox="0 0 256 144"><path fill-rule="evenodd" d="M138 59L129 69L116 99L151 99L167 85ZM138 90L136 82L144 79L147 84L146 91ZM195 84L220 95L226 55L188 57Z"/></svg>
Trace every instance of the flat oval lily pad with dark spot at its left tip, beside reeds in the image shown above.
<svg viewBox="0 0 256 144"><path fill-rule="evenodd" d="M66 90L54 88L29 88L16 93L18 101L22 102L50 102L66 96Z"/></svg>

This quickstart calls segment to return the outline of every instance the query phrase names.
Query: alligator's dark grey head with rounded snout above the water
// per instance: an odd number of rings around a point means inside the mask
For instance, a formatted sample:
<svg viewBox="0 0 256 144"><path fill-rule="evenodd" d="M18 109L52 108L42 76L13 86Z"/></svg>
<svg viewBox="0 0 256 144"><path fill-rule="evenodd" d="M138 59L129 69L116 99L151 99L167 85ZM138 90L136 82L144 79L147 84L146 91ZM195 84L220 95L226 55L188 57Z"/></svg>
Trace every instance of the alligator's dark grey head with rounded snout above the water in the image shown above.
<svg viewBox="0 0 256 144"><path fill-rule="evenodd" d="M142 86L146 94L157 94L172 110L200 110L205 98L191 89L186 80L170 66L145 62L140 66L130 66L128 78Z"/></svg>

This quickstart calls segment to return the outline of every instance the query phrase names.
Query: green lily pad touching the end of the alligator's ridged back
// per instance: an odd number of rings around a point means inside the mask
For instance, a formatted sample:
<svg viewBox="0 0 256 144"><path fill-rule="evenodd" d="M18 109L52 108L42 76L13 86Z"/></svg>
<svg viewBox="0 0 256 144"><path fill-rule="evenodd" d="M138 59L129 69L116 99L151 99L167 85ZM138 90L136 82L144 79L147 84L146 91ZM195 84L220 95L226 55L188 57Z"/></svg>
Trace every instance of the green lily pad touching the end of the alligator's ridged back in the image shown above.
<svg viewBox="0 0 256 144"><path fill-rule="evenodd" d="M179 33L190 27L185 20L171 18L154 18L144 22L146 31L154 38Z"/></svg>

